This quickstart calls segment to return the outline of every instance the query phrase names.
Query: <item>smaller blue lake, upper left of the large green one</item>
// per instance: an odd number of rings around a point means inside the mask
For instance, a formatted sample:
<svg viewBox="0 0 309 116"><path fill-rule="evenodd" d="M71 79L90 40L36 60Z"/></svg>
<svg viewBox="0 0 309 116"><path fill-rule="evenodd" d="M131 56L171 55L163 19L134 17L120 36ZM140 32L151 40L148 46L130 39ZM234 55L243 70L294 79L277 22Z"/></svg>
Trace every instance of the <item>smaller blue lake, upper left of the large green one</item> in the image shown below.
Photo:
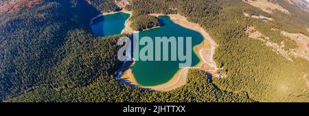
<svg viewBox="0 0 309 116"><path fill-rule="evenodd" d="M124 12L117 12L115 14L106 14L95 18L91 29L94 35L103 37L108 35L116 35L122 33L124 23L130 17L130 14Z"/></svg>

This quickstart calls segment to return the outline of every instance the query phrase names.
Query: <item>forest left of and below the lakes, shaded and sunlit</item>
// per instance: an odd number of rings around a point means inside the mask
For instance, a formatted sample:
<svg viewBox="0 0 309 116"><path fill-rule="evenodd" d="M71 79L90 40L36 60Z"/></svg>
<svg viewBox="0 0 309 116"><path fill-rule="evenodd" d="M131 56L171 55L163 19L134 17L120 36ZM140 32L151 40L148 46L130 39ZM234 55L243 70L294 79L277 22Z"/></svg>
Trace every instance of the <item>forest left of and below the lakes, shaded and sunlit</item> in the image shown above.
<svg viewBox="0 0 309 116"><path fill-rule="evenodd" d="M47 7L47 4L52 6ZM115 10L115 9L114 9ZM38 14L49 14L37 16ZM100 12L85 1L44 1L1 16L0 96L3 102L254 102L246 92L222 91L206 72L161 92L116 81L123 35L98 38L89 29ZM85 16L87 14L87 16ZM51 20L52 19L52 20Z"/></svg>

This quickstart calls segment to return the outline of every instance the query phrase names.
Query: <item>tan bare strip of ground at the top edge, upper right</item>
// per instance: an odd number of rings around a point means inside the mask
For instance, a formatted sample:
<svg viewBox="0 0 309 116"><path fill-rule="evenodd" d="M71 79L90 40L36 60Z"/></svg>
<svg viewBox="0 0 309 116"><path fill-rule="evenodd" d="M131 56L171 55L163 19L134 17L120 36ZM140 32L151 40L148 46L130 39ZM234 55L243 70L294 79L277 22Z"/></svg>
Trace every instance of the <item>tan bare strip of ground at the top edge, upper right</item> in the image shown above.
<svg viewBox="0 0 309 116"><path fill-rule="evenodd" d="M290 15L290 12L288 10L286 10L277 3L272 3L269 0L242 0L242 1L249 3L255 8L260 8L261 10L263 10L264 12L268 12L269 14L273 14L275 10L279 10L281 12L284 12L285 14Z"/></svg>

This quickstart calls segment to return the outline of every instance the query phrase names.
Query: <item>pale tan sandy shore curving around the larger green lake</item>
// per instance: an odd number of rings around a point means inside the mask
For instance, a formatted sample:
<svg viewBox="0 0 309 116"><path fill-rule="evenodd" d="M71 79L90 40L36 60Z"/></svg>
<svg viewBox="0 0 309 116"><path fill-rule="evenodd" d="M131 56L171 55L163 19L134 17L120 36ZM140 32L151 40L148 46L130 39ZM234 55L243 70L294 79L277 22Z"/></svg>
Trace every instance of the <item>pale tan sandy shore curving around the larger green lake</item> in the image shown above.
<svg viewBox="0 0 309 116"><path fill-rule="evenodd" d="M129 11L123 11L123 12L129 12ZM132 12L130 12L132 13ZM203 29L200 25L196 23L191 23L190 21L185 18L185 16L181 16L179 14L150 14L152 16L169 16L170 20L172 20L173 23L180 25L181 27L185 27L186 29L191 29L193 31L196 31L198 33L201 33L203 35L203 42L201 44L198 44L194 46L194 53L198 56L198 59L200 59L200 62L198 65L192 68L196 68L199 70L205 70L211 75L216 74L216 63L214 62L213 56L216 47L218 45L212 38L210 37L209 33ZM131 15L130 15L131 16ZM123 31L123 33L136 33L139 31L132 31L130 30L130 21L126 20L125 24L125 29L126 31ZM157 28L157 27L154 27ZM125 30L124 29L124 30ZM205 56L205 57L203 57ZM208 57L207 57L208 56ZM130 64L129 68L124 71L122 74L121 78L124 79L126 82L124 83L125 85L134 85L137 87L145 88L145 89L153 89L156 91L170 91L172 89L176 89L178 87L181 87L182 85L185 85L187 83L187 72L188 70L192 68L182 68L179 69L176 74L166 83L163 83L161 85L155 85L155 86L143 86L137 83L133 70L130 68L133 66L134 63ZM123 71L123 70L122 70ZM122 72L121 71L121 72ZM119 75L120 76L120 75ZM119 77L118 77L119 78ZM124 82L124 81L122 81ZM128 84L129 83L129 84Z"/></svg>

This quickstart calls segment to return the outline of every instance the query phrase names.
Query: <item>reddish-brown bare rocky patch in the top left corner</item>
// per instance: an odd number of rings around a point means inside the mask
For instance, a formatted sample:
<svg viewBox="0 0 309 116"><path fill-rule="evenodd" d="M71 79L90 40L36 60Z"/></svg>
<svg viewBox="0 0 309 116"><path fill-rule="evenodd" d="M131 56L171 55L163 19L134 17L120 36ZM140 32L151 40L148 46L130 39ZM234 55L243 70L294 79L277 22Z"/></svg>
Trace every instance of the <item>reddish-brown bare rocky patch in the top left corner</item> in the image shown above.
<svg viewBox="0 0 309 116"><path fill-rule="evenodd" d="M43 0L18 0L4 1L0 4L0 14L17 13L24 9L30 9L34 5L41 3Z"/></svg>

